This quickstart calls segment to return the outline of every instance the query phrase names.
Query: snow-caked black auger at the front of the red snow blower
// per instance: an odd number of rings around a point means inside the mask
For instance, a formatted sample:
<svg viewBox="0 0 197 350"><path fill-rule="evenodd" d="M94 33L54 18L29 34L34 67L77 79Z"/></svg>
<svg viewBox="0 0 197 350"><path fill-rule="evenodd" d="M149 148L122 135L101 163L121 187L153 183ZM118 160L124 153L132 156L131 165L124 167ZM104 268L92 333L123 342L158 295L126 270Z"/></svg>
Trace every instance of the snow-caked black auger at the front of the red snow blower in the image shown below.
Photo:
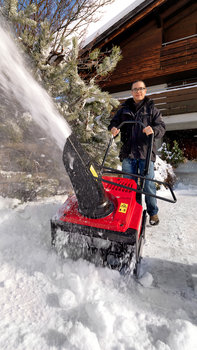
<svg viewBox="0 0 197 350"><path fill-rule="evenodd" d="M65 232L54 224L52 224L52 230L52 246L63 258L73 260L82 258L96 266L108 267L120 273L134 270L135 243L128 245L81 233Z"/></svg>

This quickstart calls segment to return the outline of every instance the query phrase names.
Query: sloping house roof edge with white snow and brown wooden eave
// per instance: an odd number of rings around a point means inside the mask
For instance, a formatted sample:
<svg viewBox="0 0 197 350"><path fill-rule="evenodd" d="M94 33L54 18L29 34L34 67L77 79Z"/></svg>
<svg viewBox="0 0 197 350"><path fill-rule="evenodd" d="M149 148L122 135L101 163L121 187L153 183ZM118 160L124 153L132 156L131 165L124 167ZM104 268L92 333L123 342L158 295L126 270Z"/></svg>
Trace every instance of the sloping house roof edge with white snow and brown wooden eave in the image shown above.
<svg viewBox="0 0 197 350"><path fill-rule="evenodd" d="M125 29L133 25L153 9L163 4L167 0L136 0L134 3L124 9L119 15L112 18L107 24L93 33L85 42L85 48L88 48L93 42L93 46L102 46L112 38L119 35Z"/></svg>

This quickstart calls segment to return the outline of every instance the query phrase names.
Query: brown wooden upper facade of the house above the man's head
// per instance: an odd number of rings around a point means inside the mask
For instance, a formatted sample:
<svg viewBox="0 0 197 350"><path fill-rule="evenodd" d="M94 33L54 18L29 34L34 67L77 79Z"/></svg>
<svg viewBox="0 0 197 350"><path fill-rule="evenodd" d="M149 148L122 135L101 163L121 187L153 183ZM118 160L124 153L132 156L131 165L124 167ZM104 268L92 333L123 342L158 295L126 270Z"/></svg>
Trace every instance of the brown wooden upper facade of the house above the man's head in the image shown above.
<svg viewBox="0 0 197 350"><path fill-rule="evenodd" d="M125 31L116 38L114 43L121 47L123 58L110 78L101 83L104 89L110 92L127 90L136 79L148 81L150 86L195 76L197 3L179 8L174 16L168 8L166 17L164 12L159 18L160 24L158 16L152 15L137 29ZM171 39L175 42L167 43Z"/></svg>

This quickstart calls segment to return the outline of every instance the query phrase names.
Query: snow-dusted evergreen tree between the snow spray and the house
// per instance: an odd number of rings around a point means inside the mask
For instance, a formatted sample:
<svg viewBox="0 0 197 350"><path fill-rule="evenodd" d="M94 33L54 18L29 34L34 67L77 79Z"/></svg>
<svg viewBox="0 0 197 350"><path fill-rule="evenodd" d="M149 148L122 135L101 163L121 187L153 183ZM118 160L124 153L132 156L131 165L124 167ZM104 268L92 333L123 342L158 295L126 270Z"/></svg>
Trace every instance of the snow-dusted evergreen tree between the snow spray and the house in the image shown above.
<svg viewBox="0 0 197 350"><path fill-rule="evenodd" d="M4 1L3 13L14 24L16 33L20 33L19 42L32 59L37 80L54 98L86 150L100 162L109 141L106 137L109 116L119 103L102 92L97 82L115 68L121 59L120 49L113 47L106 55L97 49L83 59L79 57L78 40L68 40L65 34L54 52L57 38L48 21L49 15L40 21L36 11L34 4L21 9L18 0Z"/></svg>

